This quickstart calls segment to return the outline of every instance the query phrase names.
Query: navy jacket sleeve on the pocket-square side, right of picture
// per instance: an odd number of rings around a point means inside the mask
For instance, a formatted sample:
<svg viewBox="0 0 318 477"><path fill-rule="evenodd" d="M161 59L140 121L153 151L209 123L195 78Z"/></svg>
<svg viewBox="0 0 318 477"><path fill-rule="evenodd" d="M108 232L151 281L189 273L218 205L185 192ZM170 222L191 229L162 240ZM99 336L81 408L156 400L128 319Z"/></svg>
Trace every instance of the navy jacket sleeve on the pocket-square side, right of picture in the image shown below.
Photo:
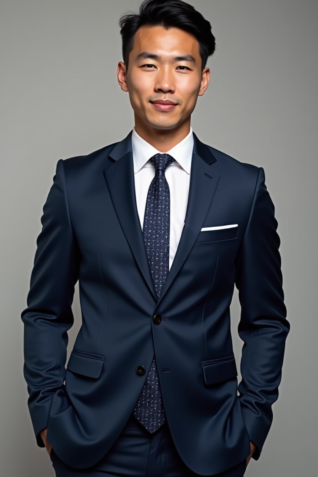
<svg viewBox="0 0 318 477"><path fill-rule="evenodd" d="M259 459L272 424L272 404L278 398L290 328L274 213L264 169L260 167L250 216L236 256L235 280L241 304L238 334L244 342L238 391L245 425L256 445L252 455L255 460Z"/></svg>

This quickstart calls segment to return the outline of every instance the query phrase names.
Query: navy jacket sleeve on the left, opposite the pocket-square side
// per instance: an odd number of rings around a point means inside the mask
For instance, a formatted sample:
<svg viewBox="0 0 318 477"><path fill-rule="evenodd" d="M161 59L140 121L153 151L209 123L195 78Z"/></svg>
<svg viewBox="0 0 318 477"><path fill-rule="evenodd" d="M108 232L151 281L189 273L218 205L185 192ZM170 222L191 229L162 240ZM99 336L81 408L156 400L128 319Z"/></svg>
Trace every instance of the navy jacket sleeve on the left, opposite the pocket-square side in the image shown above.
<svg viewBox="0 0 318 477"><path fill-rule="evenodd" d="M80 253L74 239L65 188L64 164L56 165L43 206L24 323L23 374L28 407L38 446L47 427L54 393L64 390L67 331L73 324L72 301Z"/></svg>

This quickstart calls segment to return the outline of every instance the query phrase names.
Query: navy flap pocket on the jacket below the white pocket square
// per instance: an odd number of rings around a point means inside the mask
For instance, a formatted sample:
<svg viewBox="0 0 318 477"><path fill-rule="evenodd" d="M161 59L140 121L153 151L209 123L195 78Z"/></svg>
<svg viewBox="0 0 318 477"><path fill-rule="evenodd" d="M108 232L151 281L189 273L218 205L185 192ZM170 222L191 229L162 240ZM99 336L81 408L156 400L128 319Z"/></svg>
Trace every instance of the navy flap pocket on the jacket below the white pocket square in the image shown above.
<svg viewBox="0 0 318 477"><path fill-rule="evenodd" d="M219 360L201 361L205 384L215 384L237 376L234 354Z"/></svg>

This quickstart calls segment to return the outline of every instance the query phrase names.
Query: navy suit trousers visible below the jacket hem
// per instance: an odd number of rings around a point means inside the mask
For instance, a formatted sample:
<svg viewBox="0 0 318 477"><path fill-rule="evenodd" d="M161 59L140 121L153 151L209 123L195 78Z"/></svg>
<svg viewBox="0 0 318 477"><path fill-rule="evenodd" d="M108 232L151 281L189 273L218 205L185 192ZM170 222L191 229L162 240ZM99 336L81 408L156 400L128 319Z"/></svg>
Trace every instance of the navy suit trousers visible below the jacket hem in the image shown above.
<svg viewBox="0 0 318 477"><path fill-rule="evenodd" d="M150 434L131 415L113 446L94 466L75 469L67 466L51 449L56 477L199 477L179 456L167 421ZM214 477L243 477L246 459Z"/></svg>

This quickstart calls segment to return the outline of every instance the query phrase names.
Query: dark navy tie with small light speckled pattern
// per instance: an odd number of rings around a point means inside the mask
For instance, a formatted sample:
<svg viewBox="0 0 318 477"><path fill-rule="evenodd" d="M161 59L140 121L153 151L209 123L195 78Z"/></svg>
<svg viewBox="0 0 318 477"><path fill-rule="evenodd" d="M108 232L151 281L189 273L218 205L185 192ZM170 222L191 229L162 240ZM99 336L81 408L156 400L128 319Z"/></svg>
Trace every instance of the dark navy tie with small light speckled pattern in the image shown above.
<svg viewBox="0 0 318 477"><path fill-rule="evenodd" d="M154 165L155 175L148 189L143 236L159 299L169 273L170 190L164 171L175 159L169 154L155 154L149 160ZM164 424L164 406L155 356L133 415L151 434Z"/></svg>

